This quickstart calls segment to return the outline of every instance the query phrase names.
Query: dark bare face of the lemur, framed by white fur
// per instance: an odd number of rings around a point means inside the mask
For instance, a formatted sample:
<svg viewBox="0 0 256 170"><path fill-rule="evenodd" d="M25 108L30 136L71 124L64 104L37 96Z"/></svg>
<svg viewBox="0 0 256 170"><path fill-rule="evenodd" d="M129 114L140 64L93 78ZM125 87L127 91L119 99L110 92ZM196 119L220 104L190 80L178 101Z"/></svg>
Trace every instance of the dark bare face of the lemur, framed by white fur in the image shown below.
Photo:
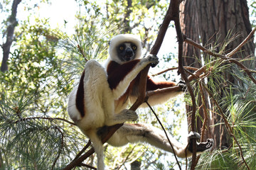
<svg viewBox="0 0 256 170"><path fill-rule="evenodd" d="M124 42L117 46L117 56L122 62L134 60L136 56L137 46L132 42Z"/></svg>

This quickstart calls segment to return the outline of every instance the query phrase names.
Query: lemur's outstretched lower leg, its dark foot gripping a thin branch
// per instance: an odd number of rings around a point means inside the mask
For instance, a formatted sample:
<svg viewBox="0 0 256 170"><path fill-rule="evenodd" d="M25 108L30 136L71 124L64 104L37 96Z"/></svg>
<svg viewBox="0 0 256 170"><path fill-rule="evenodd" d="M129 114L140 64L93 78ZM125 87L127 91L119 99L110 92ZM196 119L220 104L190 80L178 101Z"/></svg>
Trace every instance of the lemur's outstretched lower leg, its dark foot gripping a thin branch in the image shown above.
<svg viewBox="0 0 256 170"><path fill-rule="evenodd" d="M164 132L158 128L154 128L151 125L145 124L124 124L117 132L114 133L113 137L110 138L108 143L113 146L122 146L127 143L135 143L135 142L146 142L150 145L158 147L160 149L164 149L167 152L172 152L177 155L177 157L191 157L191 139L200 138L200 135L196 132L191 132L188 135L188 147L186 145L182 145L180 142L176 141L171 135L169 135L169 139L171 140L171 144L174 147L174 150L171 148L166 135ZM213 140L208 139L205 143L198 143L198 154L200 152L208 151L213 147Z"/></svg>

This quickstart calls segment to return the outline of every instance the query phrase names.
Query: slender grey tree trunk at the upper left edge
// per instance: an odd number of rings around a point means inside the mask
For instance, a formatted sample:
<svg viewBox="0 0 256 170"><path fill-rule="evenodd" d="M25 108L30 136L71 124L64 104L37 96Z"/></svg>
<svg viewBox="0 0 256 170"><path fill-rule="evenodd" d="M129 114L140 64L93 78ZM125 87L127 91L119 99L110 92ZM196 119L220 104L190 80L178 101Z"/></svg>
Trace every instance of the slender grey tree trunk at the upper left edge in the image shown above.
<svg viewBox="0 0 256 170"><path fill-rule="evenodd" d="M21 3L21 0L14 0L11 6L11 16L9 16L7 27L6 42L4 42L1 47L3 48L3 60L1 62L1 72L6 72L8 70L7 61L9 59L11 44L14 41L14 28L18 25L16 20L18 4Z"/></svg>

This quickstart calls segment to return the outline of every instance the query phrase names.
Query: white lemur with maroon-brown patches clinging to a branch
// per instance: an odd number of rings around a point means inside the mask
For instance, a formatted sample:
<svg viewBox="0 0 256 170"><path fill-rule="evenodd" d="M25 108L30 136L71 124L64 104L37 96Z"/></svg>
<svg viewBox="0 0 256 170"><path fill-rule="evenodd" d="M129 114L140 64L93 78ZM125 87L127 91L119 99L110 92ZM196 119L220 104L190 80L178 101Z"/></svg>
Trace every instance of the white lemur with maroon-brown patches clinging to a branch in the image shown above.
<svg viewBox="0 0 256 170"><path fill-rule="evenodd" d="M154 55L141 58L142 42L135 35L117 35L112 38L109 54L105 67L95 60L85 64L80 83L71 91L68 101L68 114L78 128L90 137L97 154L97 169L100 170L104 169L104 157L99 131L104 131L107 126L137 120L137 113L127 110L127 105L139 95L139 73L148 64L155 66L159 63ZM176 85L171 81L154 82L148 77L146 91ZM171 91L151 96L149 103L163 103L182 92ZM188 144L191 144L192 138L199 137L198 133L191 132L188 135ZM175 150L173 151L164 132L151 125L124 123L107 141L117 147L128 142L147 142L168 152L175 152L178 157L191 157L191 145L186 147L171 138ZM204 152L212 146L213 140L198 143L197 152Z"/></svg>

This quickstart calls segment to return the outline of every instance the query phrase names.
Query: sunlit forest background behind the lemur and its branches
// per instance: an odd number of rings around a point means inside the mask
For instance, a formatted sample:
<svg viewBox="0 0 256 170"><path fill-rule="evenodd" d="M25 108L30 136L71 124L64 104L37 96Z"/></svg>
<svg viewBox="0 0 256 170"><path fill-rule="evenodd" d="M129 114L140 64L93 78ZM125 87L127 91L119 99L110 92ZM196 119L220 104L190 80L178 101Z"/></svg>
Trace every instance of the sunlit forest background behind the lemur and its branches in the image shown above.
<svg viewBox="0 0 256 170"><path fill-rule="evenodd" d="M211 5L212 2L183 1L181 27L188 38L211 52L226 55L255 27L256 3L215 1ZM86 60L104 61L108 41L119 33L139 35L144 55L148 54L170 1L78 0L67 4L50 0L0 1L0 169L64 169L70 164L88 141L66 111L68 94L78 83ZM211 8L216 6L221 8ZM231 11L228 6L233 7ZM232 20L235 13L241 16ZM229 15L229 19L224 18ZM211 28L215 30L206 29L204 16L208 16L209 27L214 23ZM225 22L219 22L221 18ZM206 131L203 141L206 137L215 140L214 151L203 154L196 169L255 168L255 83L237 64L230 61L227 64L223 59L214 62L216 57L192 45L189 47L193 49L189 50L188 42L183 46L184 66L197 69L206 66L204 75L191 81L196 96L196 131ZM248 40L244 47L235 58L255 77L254 42ZM172 22L158 54L160 64L151 69L151 74L178 67L177 55L178 42ZM174 69L158 79L179 81L181 77ZM207 90L205 94L200 93L206 84L210 93ZM176 99L154 110L166 130L177 140L186 142L193 103L189 93ZM159 127L149 109L139 109L138 113L139 122ZM121 148L106 145L105 156L108 169L130 169L132 162L139 162L137 167L141 169L178 169L173 154L143 144ZM178 162L182 168L186 166L186 160L178 159ZM83 163L83 166L95 166L95 156Z"/></svg>

